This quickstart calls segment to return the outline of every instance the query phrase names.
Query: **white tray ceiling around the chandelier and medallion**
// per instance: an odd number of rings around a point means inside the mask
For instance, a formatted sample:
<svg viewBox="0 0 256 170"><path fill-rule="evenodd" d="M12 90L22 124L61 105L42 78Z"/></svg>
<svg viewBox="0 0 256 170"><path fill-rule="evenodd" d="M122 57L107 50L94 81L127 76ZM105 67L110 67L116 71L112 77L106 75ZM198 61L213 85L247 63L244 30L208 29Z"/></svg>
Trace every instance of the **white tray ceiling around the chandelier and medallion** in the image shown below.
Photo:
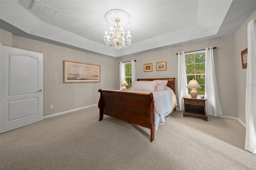
<svg viewBox="0 0 256 170"><path fill-rule="evenodd" d="M0 0L0 27L110 58L233 35L256 10L256 0L40 0L58 10L50 18L31 10L33 2ZM127 48L112 49L103 40L112 26L104 16L112 9L130 15L124 25L132 35Z"/></svg>

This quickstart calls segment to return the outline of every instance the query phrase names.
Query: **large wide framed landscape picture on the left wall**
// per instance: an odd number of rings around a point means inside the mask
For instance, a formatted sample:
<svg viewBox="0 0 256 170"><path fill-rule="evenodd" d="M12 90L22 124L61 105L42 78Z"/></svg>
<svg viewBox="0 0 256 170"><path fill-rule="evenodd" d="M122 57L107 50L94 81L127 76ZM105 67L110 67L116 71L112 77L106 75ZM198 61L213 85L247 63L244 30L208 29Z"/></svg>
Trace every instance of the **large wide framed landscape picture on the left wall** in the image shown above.
<svg viewBox="0 0 256 170"><path fill-rule="evenodd" d="M100 82L100 65L64 60L63 82L64 83Z"/></svg>

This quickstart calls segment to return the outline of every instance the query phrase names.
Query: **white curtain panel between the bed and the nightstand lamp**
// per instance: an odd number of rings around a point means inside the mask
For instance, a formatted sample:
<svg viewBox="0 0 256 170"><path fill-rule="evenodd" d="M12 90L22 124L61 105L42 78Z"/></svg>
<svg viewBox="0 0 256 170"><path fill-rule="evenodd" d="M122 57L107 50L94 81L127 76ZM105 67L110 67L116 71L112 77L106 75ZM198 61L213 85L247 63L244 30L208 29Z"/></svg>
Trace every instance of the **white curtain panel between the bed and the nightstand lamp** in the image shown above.
<svg viewBox="0 0 256 170"><path fill-rule="evenodd" d="M183 96L188 96L186 61L184 51L178 53L178 98L180 111L184 111Z"/></svg>

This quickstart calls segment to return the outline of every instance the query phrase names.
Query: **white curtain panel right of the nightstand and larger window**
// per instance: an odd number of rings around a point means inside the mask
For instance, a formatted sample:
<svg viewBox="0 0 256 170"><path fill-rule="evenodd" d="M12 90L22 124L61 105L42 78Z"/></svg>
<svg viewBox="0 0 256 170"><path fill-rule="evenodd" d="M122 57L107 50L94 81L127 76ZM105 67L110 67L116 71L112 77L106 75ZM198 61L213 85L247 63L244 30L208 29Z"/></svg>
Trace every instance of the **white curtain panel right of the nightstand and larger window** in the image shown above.
<svg viewBox="0 0 256 170"><path fill-rule="evenodd" d="M223 115L220 107L212 47L205 50L205 97L207 115Z"/></svg>

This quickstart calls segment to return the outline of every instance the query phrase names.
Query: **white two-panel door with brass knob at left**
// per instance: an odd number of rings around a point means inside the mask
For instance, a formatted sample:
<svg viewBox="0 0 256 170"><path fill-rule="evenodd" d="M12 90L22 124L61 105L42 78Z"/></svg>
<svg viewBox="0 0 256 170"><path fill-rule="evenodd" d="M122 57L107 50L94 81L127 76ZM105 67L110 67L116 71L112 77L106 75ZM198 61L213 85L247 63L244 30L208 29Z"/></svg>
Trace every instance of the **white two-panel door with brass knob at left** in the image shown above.
<svg viewBox="0 0 256 170"><path fill-rule="evenodd" d="M43 54L0 45L0 133L43 120Z"/></svg>

